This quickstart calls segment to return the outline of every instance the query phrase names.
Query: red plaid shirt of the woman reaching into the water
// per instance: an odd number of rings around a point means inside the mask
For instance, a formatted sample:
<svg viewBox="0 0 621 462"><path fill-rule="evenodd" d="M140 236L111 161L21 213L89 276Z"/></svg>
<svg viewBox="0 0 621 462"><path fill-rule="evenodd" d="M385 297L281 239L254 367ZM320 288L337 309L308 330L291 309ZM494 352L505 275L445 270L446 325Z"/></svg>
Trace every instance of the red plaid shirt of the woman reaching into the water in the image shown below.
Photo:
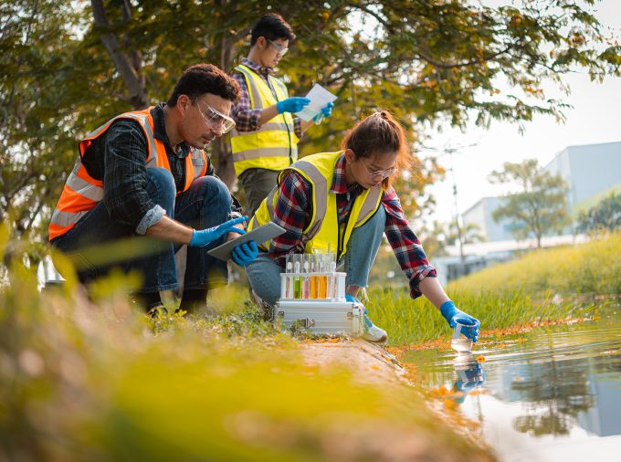
<svg viewBox="0 0 621 462"><path fill-rule="evenodd" d="M276 203L274 222L287 231L272 239L269 246L270 257L284 257L301 243L303 230L309 226L312 215L310 201L310 183L300 173L289 171L279 184L279 198ZM336 162L330 193L336 194L336 205L339 215L339 226L347 223L352 205L358 194L363 192L362 186L353 184L349 188L345 182L345 156ZM418 237L410 228L401 208L395 190L384 191L382 205L386 211L384 234L393 247L395 257L410 283L410 296L413 299L422 293L418 284L423 278L437 277L436 268L429 265L425 250Z"/></svg>

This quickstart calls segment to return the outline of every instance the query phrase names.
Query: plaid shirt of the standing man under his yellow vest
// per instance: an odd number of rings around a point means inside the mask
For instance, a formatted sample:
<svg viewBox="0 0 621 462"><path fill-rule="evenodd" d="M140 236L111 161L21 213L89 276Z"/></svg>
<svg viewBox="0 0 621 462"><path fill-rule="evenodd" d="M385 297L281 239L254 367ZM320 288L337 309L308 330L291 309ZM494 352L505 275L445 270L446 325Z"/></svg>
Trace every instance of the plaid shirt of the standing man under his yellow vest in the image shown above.
<svg viewBox="0 0 621 462"><path fill-rule="evenodd" d="M274 73L273 68L263 68L256 62L250 61L247 58L243 58L241 63L257 72L258 75L268 83L268 87L272 90L272 93L275 94L268 79L268 75ZM246 85L246 79L241 72L234 72L232 77L237 80L239 88L241 89L241 96L231 109L231 117L235 121L235 128L237 131L258 130L260 128L258 125L258 119L261 117L261 110L252 108L252 104L250 103L250 94ZM298 138L302 137L302 128L300 125L300 118L298 117L293 118L293 130Z"/></svg>

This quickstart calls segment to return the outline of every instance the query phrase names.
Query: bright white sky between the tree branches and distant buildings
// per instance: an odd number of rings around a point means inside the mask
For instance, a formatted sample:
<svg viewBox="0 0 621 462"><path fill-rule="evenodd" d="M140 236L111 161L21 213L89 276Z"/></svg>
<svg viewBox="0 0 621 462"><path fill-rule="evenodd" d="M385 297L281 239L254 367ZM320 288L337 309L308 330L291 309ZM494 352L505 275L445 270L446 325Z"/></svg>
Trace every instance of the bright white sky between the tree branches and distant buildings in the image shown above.
<svg viewBox="0 0 621 462"><path fill-rule="evenodd" d="M487 4L500 3L489 0ZM595 16L604 26L617 30L621 37L621 0L604 0L597 6ZM605 79L602 84L591 82L584 73L564 78L572 92L563 96L563 102L573 106L565 109L567 120L557 123L553 116L536 116L524 122L521 134L517 124L493 121L489 130L471 125L465 132L444 129L442 132L427 131L430 140L426 144L442 147L470 146L453 154L455 182L458 188L458 211L463 214L481 197L508 192L506 186L489 184L488 175L499 170L505 162L520 163L525 159L538 159L546 165L557 152L567 146L621 142L621 79ZM546 97L560 96L554 84L544 85ZM418 152L420 157L437 155L437 152ZM450 168L450 156L444 155L439 162ZM434 184L437 207L434 214L425 217L447 223L455 216L455 200L451 174Z"/></svg>

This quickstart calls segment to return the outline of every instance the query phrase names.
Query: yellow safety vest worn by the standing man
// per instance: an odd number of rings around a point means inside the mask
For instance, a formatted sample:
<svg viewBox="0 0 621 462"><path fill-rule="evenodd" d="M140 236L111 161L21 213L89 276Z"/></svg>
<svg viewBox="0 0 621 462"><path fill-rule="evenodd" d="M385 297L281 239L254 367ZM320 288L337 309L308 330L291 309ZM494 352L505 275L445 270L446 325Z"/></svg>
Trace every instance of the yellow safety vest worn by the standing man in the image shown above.
<svg viewBox="0 0 621 462"><path fill-rule="evenodd" d="M240 72L246 79L252 109L268 108L289 98L287 87L275 77L268 76L268 85L257 72L243 64L234 72ZM298 159L298 141L289 112L277 115L255 131L233 129L231 152L235 173L239 176L250 168L282 170L288 167Z"/></svg>

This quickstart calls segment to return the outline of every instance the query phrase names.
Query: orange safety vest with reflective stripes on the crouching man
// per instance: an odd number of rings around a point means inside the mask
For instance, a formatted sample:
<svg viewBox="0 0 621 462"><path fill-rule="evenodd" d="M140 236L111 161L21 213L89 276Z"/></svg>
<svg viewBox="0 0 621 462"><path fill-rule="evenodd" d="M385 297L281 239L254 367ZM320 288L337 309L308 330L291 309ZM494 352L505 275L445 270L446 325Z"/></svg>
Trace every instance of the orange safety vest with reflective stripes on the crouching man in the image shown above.
<svg viewBox="0 0 621 462"><path fill-rule="evenodd" d="M68 232L79 219L88 214L90 210L98 205L103 199L103 182L94 179L87 173L82 158L88 152L92 142L103 135L111 126L112 122L119 119L131 119L140 122L142 131L147 138L147 168L161 167L169 172L171 171L166 149L163 142L156 140L153 136L153 116L151 110L153 107L145 110L133 110L125 112L107 121L100 128L89 133L89 135L79 142L79 157L73 167L73 171L69 173L65 187L60 194L56 209L52 214L52 219L47 230L49 240L62 236ZM197 178L205 175L207 170L207 158L205 152L200 149L191 148L189 155L185 157L185 184L184 191L190 187L190 184ZM177 194L181 194L179 191Z"/></svg>

